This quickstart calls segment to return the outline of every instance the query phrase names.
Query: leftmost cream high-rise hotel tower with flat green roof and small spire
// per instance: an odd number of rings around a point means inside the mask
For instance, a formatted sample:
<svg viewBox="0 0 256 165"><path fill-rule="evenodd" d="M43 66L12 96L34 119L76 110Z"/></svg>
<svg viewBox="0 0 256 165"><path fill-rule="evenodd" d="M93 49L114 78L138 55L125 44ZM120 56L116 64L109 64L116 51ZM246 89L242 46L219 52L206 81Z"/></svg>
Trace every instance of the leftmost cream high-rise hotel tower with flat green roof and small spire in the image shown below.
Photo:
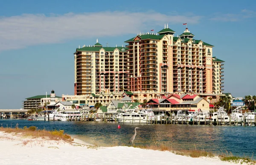
<svg viewBox="0 0 256 165"><path fill-rule="evenodd" d="M75 56L75 95L119 92L127 86L126 48L104 47L96 43L77 48Z"/></svg>

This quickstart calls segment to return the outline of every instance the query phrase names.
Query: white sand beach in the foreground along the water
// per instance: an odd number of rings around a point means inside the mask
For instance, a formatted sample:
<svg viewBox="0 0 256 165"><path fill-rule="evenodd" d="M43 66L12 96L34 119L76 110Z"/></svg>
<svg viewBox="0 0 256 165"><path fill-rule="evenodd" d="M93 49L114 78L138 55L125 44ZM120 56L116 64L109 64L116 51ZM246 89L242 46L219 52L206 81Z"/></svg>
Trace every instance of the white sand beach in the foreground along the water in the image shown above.
<svg viewBox="0 0 256 165"><path fill-rule="evenodd" d="M31 139L0 132L0 165L235 165L217 157L192 158L169 151L140 148L95 147L74 139L73 143Z"/></svg>

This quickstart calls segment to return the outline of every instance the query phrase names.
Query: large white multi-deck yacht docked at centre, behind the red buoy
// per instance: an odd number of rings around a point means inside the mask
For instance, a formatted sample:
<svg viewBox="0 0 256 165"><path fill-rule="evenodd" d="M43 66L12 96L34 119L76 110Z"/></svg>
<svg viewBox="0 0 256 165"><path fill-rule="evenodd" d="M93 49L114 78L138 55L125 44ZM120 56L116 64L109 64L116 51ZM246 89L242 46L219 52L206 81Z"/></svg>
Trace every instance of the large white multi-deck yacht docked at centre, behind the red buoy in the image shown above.
<svg viewBox="0 0 256 165"><path fill-rule="evenodd" d="M116 120L118 123L150 123L147 113L140 111L137 107L118 113Z"/></svg>

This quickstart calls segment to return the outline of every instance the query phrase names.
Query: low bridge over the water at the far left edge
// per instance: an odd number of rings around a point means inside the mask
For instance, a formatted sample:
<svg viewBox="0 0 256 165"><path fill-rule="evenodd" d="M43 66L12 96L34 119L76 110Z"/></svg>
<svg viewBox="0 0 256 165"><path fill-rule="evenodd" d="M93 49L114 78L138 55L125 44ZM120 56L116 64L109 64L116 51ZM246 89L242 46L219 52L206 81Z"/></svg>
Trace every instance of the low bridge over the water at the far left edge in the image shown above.
<svg viewBox="0 0 256 165"><path fill-rule="evenodd" d="M28 110L24 109L6 109L0 110L0 119L16 119L16 118L26 118Z"/></svg>

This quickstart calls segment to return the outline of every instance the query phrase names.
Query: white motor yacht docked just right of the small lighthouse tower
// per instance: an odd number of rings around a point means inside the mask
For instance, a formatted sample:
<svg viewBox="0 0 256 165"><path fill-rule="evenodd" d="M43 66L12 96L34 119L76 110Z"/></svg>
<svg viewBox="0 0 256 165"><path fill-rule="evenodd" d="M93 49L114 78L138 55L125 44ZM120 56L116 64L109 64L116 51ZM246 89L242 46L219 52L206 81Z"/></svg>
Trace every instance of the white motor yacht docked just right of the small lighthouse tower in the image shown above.
<svg viewBox="0 0 256 165"><path fill-rule="evenodd" d="M67 109L58 113L58 117L60 117L58 121L77 121L81 119L81 116L82 113L79 110Z"/></svg>

